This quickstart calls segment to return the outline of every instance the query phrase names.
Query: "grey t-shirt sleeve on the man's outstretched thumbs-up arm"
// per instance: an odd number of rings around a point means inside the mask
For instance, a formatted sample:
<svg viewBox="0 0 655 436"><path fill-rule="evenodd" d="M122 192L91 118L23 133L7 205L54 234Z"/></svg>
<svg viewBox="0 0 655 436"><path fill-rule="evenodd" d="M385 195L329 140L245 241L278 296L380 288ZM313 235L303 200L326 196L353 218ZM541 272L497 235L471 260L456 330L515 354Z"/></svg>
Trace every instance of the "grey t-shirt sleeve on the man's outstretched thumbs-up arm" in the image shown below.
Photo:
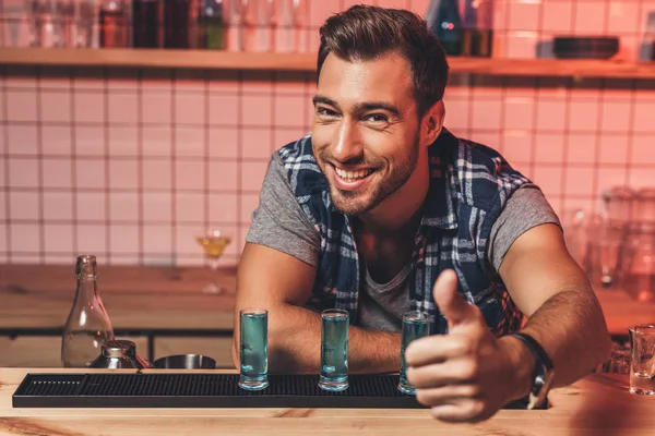
<svg viewBox="0 0 655 436"><path fill-rule="evenodd" d="M527 184L516 190L508 198L503 210L491 227L488 257L496 271L510 246L529 229L555 223L561 228L560 220L539 187Z"/></svg>

